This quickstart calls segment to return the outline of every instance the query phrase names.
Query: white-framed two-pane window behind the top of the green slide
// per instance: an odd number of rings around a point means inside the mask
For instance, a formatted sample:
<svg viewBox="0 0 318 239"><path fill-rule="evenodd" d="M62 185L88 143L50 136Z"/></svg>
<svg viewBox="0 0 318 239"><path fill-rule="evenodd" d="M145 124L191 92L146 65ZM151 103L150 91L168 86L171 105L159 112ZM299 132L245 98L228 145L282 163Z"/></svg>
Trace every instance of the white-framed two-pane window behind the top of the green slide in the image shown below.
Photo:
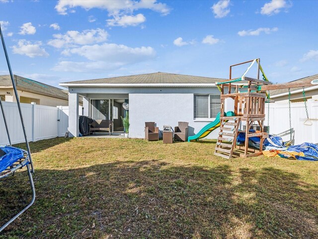
<svg viewBox="0 0 318 239"><path fill-rule="evenodd" d="M216 118L220 108L220 95L194 95L194 119Z"/></svg>

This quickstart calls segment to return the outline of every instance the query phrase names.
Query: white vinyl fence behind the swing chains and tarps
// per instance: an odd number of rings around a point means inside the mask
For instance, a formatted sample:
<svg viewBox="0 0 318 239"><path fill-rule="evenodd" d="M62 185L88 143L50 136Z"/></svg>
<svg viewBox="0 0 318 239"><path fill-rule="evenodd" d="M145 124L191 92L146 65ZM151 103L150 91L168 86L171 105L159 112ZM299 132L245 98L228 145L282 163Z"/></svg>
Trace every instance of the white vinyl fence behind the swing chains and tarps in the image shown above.
<svg viewBox="0 0 318 239"><path fill-rule="evenodd" d="M318 143L318 101L308 100L307 108L312 125L305 125L307 119L304 102L291 103L291 122L294 144L303 142ZM268 104L265 104L267 125ZM284 141L290 140L288 103L269 104L270 134L281 136Z"/></svg>

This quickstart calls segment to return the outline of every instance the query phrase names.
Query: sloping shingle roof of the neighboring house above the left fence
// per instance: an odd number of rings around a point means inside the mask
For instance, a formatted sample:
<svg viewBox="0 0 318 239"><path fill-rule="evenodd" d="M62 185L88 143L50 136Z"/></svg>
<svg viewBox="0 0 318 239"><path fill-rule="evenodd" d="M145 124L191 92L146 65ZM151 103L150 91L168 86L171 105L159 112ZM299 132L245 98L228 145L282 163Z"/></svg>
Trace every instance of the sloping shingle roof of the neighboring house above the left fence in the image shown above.
<svg viewBox="0 0 318 239"><path fill-rule="evenodd" d="M63 90L27 79L21 76L13 75L17 90L26 91L38 95L50 96L62 100L69 100L69 96ZM10 75L0 76L0 88L12 88Z"/></svg>

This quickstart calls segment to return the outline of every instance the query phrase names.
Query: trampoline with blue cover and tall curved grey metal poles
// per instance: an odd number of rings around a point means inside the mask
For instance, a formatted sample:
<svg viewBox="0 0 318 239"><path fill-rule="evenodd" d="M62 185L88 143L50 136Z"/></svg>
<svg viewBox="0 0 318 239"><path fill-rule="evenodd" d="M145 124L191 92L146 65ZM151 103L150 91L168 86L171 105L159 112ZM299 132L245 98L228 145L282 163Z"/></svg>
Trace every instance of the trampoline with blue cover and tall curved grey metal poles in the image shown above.
<svg viewBox="0 0 318 239"><path fill-rule="evenodd" d="M10 77L11 77L11 81L12 81L12 86L13 86L13 90L14 90L14 94L15 94L15 98L16 98L16 103L17 103L18 112L19 112L20 119L21 119L23 134L24 134L26 148L27 148L27 150L23 150L20 148L12 147L11 138L10 138L10 134L9 134L9 128L8 128L7 121L6 121L5 114L4 114L4 108L2 105L2 101L0 99L0 108L1 108L1 112L2 112L2 117L3 117L5 129L6 129L7 137L8 137L8 142L10 145L10 146L0 146L0 179L3 179L3 178L8 177L8 176L13 176L16 170L21 169L23 167L26 167L27 174L29 176L31 190L32 190L31 202L24 209L22 209L18 214L16 214L13 218L11 218L7 223L5 223L3 226L0 227L0 232L2 232L10 223L12 223L23 212L25 212L29 207L32 206L32 204L35 201L35 188L34 188L34 183L33 183L33 178L32 178L32 173L34 173L34 169L33 169L33 164L32 164L32 159L31 159L30 147L29 147L29 143L27 140L27 136L26 136L26 131L25 131L25 127L24 127L24 122L23 122L23 117L22 117L22 112L21 112L21 107L20 107L20 102L19 102L19 97L17 94L16 86L15 86L15 81L13 79L13 74L12 74L8 54L6 51L5 44L4 44L4 39L3 39L2 31L1 31L1 25L0 25L0 37L1 37L4 55L6 58L6 63L7 63L8 70L9 70Z"/></svg>

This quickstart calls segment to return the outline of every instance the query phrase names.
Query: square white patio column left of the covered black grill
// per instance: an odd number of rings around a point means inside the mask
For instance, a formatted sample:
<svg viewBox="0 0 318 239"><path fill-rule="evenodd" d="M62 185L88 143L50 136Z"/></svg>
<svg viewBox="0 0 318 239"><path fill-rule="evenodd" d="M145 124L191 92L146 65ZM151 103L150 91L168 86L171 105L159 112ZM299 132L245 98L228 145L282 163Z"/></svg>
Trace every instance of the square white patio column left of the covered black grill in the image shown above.
<svg viewBox="0 0 318 239"><path fill-rule="evenodd" d="M79 95L69 93L69 137L79 136Z"/></svg>

